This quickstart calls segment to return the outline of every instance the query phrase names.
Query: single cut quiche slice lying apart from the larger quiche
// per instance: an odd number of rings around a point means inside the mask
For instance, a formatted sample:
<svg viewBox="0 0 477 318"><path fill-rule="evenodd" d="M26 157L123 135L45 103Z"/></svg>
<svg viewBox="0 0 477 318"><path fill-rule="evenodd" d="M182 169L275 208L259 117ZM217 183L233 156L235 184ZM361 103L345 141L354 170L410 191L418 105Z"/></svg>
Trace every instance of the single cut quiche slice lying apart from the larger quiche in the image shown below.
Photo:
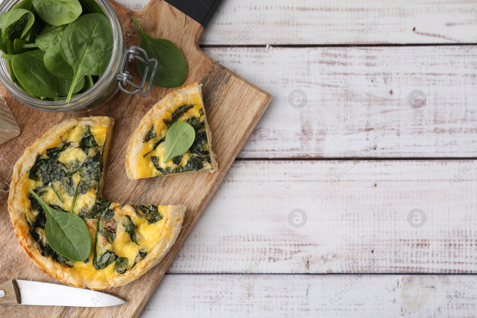
<svg viewBox="0 0 477 318"><path fill-rule="evenodd" d="M126 152L126 173L130 179L217 169L201 86L193 83L170 92L141 119ZM164 163L167 129L176 122L189 123L196 137L185 154Z"/></svg>

